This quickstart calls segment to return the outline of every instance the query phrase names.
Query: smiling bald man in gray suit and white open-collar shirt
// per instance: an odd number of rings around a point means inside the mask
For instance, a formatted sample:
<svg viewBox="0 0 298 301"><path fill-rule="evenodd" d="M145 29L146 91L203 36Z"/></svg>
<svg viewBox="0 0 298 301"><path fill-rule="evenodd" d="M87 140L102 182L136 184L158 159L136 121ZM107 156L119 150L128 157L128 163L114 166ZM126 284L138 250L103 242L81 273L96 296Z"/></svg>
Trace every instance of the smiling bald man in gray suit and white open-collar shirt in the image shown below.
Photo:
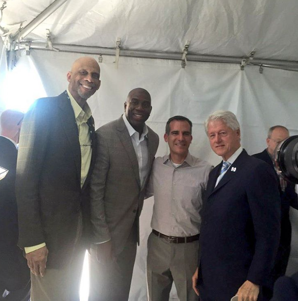
<svg viewBox="0 0 298 301"><path fill-rule="evenodd" d="M96 131L90 301L128 300L144 188L158 147L157 134L145 124L152 109L148 91L130 91L124 109L119 119Z"/></svg>

